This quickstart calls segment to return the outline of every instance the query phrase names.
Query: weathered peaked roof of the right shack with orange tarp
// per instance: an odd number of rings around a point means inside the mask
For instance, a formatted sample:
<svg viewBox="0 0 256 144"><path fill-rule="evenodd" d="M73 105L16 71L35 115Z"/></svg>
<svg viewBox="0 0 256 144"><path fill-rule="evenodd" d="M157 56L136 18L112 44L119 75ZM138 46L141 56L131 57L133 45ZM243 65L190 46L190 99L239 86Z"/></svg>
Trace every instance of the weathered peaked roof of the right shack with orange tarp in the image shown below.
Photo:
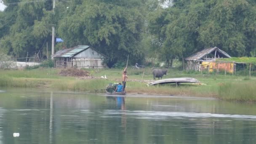
<svg viewBox="0 0 256 144"><path fill-rule="evenodd" d="M192 54L191 56L187 57L185 60L187 61L198 61L202 59L204 56L212 53L213 51L217 50L219 53L223 54L227 58L231 58L229 54L227 54L225 51L222 51L221 49L214 47L214 48L206 48L203 51L199 51L197 53Z"/></svg>

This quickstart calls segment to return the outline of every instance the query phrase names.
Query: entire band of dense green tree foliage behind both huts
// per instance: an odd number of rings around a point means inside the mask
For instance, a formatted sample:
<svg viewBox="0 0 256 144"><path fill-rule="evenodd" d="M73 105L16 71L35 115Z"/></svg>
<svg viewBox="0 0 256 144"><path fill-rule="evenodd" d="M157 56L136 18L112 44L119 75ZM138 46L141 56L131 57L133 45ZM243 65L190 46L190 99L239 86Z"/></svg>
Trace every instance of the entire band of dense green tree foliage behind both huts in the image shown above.
<svg viewBox="0 0 256 144"><path fill-rule="evenodd" d="M91 45L108 57L109 67L128 54L131 64L147 57L168 67L174 58L184 61L212 46L231 56L256 55L255 0L69 1L57 0L53 12L49 0L3 0L0 48L17 57L46 55L54 26L64 40L56 50Z"/></svg>

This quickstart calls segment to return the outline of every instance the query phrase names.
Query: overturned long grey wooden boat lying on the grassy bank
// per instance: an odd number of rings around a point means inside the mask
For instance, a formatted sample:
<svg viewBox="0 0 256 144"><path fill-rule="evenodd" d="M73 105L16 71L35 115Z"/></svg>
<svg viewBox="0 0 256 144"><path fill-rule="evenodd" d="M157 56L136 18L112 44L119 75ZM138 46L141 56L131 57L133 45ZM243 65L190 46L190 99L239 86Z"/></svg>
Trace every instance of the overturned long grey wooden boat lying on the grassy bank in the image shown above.
<svg viewBox="0 0 256 144"><path fill-rule="evenodd" d="M177 77L177 78L167 78L163 80L157 80L153 83L149 83L149 85L157 85L157 84L168 84L168 83L200 83L199 80L191 77Z"/></svg>

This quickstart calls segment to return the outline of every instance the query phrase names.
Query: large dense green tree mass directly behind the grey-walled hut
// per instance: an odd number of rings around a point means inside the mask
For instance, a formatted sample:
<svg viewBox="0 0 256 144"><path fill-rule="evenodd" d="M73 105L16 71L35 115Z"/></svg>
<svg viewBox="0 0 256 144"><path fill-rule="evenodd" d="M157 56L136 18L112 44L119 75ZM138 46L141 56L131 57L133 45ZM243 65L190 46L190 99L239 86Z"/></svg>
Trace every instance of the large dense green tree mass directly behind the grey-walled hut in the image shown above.
<svg viewBox="0 0 256 144"><path fill-rule="evenodd" d="M61 19L58 32L68 47L92 45L104 53L109 67L126 60L128 54L135 63L144 58L142 6L140 0L83 0Z"/></svg>

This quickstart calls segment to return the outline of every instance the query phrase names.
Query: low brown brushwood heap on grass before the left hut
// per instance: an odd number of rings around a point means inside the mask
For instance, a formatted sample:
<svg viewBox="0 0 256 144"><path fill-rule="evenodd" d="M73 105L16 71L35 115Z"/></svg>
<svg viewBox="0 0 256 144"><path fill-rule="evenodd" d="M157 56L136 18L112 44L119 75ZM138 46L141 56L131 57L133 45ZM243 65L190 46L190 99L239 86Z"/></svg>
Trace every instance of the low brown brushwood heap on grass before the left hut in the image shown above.
<svg viewBox="0 0 256 144"><path fill-rule="evenodd" d="M70 76L70 77L88 77L90 76L90 72L86 70L81 70L81 69L61 69L59 72L59 75L62 76Z"/></svg>

